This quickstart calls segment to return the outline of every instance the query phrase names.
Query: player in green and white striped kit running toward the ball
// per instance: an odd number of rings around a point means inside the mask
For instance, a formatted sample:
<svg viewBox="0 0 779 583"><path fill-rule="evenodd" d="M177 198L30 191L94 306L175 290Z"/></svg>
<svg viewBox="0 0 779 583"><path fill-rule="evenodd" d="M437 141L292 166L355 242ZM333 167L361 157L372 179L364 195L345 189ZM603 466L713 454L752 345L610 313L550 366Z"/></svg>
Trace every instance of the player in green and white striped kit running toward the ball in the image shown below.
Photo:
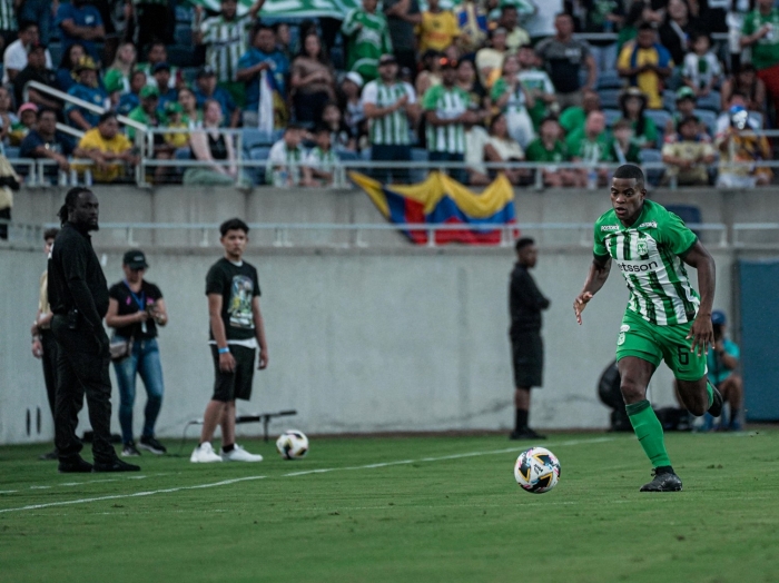
<svg viewBox="0 0 779 583"><path fill-rule="evenodd" d="M722 412L722 396L706 376L707 352L714 339L714 260L677 215L645 196L641 169L620 166L611 185L613 208L595 221L594 259L573 310L581 324L582 312L615 264L630 290L617 338L620 388L635 436L654 466L654 480L641 492L678 492L682 483L665 452L662 425L647 401L647 386L664 360L690 413L700 416L708 409L718 417ZM700 296L690 285L686 264L698 270Z"/></svg>

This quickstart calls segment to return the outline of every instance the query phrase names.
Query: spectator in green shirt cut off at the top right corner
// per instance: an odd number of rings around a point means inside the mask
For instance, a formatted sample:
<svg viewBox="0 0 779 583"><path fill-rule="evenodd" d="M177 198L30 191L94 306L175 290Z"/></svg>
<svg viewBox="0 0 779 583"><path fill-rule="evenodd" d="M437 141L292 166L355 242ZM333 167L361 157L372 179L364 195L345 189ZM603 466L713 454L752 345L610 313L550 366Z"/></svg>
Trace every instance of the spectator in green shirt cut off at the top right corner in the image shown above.
<svg viewBox="0 0 779 583"><path fill-rule="evenodd" d="M757 0L757 7L743 19L741 48L752 48L752 65L779 111L779 10L773 0Z"/></svg>

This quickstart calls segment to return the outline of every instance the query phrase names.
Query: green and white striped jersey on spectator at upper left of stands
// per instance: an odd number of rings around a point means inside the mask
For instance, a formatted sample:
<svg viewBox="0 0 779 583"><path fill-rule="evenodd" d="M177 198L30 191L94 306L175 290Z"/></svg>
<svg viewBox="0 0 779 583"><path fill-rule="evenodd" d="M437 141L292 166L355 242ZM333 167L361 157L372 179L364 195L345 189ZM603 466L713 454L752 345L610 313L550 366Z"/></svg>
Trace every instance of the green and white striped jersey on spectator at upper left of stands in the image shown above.
<svg viewBox="0 0 779 583"><path fill-rule="evenodd" d="M216 71L217 81L235 81L238 61L248 48L247 29L250 24L249 14L236 17L230 21L219 14L200 23L203 43L206 45L206 63Z"/></svg>

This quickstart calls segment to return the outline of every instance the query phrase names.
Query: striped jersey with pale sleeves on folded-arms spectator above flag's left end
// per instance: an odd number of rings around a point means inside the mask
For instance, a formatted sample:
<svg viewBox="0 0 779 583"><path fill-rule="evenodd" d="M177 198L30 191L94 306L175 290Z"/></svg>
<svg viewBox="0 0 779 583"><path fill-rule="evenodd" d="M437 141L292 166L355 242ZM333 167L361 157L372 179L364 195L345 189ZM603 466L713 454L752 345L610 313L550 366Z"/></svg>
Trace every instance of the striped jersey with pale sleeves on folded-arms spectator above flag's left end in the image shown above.
<svg viewBox="0 0 779 583"><path fill-rule="evenodd" d="M377 108L393 106L404 95L408 96L408 102L416 102L414 88L404 82L384 85L381 79L371 81L363 89L363 103L373 103ZM405 108L400 108L382 118L368 120L368 137L373 146L407 146L411 144L408 136L408 116Z"/></svg>

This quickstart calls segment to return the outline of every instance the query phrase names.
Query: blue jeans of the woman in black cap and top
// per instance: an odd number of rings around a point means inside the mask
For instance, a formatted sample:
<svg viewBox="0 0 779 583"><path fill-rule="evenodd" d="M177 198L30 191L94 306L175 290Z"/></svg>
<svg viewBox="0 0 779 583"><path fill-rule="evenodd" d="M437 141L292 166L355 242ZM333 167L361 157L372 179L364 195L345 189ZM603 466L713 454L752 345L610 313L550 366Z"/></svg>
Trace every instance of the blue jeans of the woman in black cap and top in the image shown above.
<svg viewBox="0 0 779 583"><path fill-rule="evenodd" d="M117 336L117 339L120 337ZM114 363L119 385L119 424L121 441L132 442L132 407L136 402L136 373L140 374L146 387L147 401L144 409L144 437L154 437L155 424L162 406L162 365L159 362L159 346L156 338L132 343L132 354Z"/></svg>

